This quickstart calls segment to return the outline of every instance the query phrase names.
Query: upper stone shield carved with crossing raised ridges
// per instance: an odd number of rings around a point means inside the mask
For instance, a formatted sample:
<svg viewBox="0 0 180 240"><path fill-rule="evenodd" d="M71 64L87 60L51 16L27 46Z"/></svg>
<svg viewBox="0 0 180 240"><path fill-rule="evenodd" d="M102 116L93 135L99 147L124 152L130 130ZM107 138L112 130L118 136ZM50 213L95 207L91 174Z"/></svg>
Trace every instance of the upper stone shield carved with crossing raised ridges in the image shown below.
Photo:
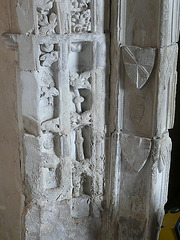
<svg viewBox="0 0 180 240"><path fill-rule="evenodd" d="M128 77L141 89L148 81L154 67L156 49L135 46L123 47L123 60Z"/></svg>

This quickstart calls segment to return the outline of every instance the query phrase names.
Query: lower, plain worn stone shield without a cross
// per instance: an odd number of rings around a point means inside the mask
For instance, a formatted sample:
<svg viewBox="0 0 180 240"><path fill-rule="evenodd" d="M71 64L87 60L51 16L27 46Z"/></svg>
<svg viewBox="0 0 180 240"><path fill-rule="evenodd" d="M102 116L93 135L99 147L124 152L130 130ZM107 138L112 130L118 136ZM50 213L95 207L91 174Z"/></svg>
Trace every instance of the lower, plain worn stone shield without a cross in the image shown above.
<svg viewBox="0 0 180 240"><path fill-rule="evenodd" d="M127 170L140 172L149 158L151 139L122 133L120 143L122 159L127 165Z"/></svg>

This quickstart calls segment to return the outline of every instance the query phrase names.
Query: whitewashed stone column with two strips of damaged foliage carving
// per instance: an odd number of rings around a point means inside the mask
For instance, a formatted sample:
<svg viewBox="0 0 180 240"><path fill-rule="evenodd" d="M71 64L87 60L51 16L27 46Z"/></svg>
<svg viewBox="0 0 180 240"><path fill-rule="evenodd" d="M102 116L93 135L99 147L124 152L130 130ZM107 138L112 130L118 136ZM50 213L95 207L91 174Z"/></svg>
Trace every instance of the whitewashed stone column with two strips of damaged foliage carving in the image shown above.
<svg viewBox="0 0 180 240"><path fill-rule="evenodd" d="M26 240L94 240L101 230L104 9L104 0L22 0L22 34L4 35L18 44Z"/></svg>

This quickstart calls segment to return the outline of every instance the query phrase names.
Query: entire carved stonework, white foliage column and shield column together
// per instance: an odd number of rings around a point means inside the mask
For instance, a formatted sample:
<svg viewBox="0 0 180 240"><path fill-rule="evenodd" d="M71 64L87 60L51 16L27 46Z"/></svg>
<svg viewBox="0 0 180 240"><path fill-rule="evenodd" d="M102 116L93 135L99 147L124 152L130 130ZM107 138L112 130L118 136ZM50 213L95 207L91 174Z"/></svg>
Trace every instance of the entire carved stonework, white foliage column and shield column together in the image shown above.
<svg viewBox="0 0 180 240"><path fill-rule="evenodd" d="M21 86L22 239L158 239L179 7L19 0L21 34L3 37L16 50Z"/></svg>

